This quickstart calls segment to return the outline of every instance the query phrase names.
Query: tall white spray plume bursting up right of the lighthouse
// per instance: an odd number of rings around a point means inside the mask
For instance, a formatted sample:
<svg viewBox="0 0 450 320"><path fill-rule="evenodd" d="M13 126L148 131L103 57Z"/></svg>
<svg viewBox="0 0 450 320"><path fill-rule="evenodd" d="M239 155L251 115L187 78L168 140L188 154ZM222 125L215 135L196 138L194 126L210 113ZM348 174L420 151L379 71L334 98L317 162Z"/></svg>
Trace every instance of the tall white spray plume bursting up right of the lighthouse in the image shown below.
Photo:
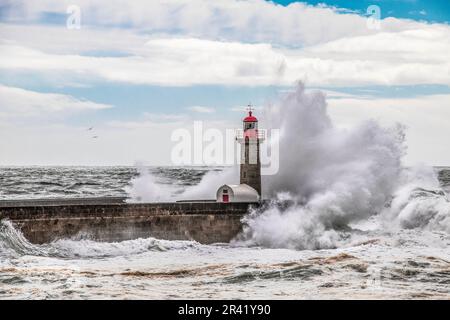
<svg viewBox="0 0 450 320"><path fill-rule="evenodd" d="M379 213L398 187L404 134L366 121L333 126L325 96L299 84L269 110L281 131L280 170L264 178L270 198L290 199L245 218L244 238L266 247L330 248L339 230Z"/></svg>

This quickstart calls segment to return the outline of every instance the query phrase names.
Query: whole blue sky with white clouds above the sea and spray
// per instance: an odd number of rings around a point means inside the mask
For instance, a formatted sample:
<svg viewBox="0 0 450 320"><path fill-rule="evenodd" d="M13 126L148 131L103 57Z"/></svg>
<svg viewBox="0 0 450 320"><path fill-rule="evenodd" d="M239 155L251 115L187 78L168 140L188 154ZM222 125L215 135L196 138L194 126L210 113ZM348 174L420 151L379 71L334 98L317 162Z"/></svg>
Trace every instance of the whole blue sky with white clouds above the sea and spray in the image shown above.
<svg viewBox="0 0 450 320"><path fill-rule="evenodd" d="M0 0L0 165L170 165L297 81L336 126L406 127L450 165L450 2Z"/></svg>

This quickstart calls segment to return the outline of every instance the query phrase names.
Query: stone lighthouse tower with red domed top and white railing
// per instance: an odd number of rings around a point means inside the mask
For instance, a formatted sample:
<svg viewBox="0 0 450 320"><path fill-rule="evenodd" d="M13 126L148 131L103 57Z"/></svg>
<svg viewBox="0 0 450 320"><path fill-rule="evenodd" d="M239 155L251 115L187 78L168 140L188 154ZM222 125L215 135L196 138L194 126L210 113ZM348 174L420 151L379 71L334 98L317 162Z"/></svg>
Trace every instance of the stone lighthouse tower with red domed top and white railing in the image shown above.
<svg viewBox="0 0 450 320"><path fill-rule="evenodd" d="M236 140L241 144L241 184L255 189L261 196L261 161L259 145L264 141L263 132L258 131L258 119L253 116L251 106L243 120L244 128L237 132Z"/></svg>

